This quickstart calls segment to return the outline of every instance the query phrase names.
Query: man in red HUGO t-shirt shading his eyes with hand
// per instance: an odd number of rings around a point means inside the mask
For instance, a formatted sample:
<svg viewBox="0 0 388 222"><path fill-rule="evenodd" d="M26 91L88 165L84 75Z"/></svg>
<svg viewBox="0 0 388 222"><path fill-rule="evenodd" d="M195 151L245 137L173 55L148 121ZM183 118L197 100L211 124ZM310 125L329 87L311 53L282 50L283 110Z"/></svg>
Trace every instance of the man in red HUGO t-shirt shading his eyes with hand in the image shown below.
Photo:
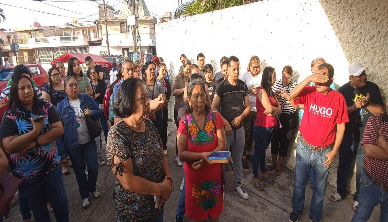
<svg viewBox="0 0 388 222"><path fill-rule="evenodd" d="M300 138L296 146L295 185L292 198L293 212L289 221L296 222L305 203L305 186L312 170L314 191L310 203L310 219L322 219L323 199L330 164L338 152L345 122L348 122L346 102L341 93L330 89L333 83L333 66L324 63L315 73L295 86L291 98L295 104L304 105ZM307 86L310 82L315 86Z"/></svg>

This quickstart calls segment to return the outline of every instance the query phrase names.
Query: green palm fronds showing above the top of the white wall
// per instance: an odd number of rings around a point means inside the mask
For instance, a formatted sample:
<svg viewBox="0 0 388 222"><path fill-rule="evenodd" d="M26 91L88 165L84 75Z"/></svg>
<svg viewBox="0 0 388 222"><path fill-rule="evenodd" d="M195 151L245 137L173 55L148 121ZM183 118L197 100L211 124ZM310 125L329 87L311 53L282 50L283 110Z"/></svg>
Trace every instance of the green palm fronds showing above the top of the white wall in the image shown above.
<svg viewBox="0 0 388 222"><path fill-rule="evenodd" d="M191 2L182 3L179 8L172 11L172 15L173 18L178 18L182 15L197 15L258 1L260 0L193 0Z"/></svg>

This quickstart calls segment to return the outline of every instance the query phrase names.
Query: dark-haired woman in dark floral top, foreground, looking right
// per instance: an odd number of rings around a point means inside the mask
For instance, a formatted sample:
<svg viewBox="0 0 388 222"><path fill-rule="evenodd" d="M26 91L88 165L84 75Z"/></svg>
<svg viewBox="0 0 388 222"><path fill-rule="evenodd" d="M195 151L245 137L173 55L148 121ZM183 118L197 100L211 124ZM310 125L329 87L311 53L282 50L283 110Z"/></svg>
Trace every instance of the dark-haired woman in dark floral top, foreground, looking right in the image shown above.
<svg viewBox="0 0 388 222"><path fill-rule="evenodd" d="M116 175L116 221L162 222L172 179L161 138L149 115L143 81L126 79L120 86L116 115L123 118L108 134L107 163ZM160 196L155 208L154 196Z"/></svg>

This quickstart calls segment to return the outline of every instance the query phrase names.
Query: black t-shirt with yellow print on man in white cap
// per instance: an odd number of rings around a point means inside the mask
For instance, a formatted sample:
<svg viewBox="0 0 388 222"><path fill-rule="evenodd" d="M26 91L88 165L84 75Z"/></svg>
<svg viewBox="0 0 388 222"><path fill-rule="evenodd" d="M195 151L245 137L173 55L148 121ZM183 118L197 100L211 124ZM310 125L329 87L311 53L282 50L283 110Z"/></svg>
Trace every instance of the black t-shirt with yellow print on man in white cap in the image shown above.
<svg viewBox="0 0 388 222"><path fill-rule="evenodd" d="M384 105L383 98L381 97L379 87L372 82L366 81L364 88L355 89L350 85L350 82L344 84L338 88L338 92L343 95L346 101L346 106L351 107L355 101L359 98L364 98L369 93L370 100L374 104ZM345 134L344 136L352 138L352 136L360 136L362 139L362 134L364 133L364 127L368 118L371 116L371 112L368 108L358 109L355 112L348 114L349 122L345 124ZM359 138L355 138L358 140Z"/></svg>

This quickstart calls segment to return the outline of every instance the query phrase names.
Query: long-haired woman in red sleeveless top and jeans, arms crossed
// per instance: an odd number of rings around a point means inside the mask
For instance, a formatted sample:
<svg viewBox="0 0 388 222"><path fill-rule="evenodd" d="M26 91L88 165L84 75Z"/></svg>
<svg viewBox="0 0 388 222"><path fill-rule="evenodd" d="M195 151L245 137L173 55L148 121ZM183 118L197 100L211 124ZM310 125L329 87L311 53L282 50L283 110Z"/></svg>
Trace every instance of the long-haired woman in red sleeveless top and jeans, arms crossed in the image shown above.
<svg viewBox="0 0 388 222"><path fill-rule="evenodd" d="M272 86L276 81L275 69L266 67L263 71L262 85L256 96L256 121L253 126L253 137L255 138L255 151L253 153L252 167L253 167L253 185L259 189L264 190L264 185L261 180L269 184L274 184L274 179L267 174L265 170L265 150L267 150L269 143L277 126L277 115L281 111L281 106L277 100ZM258 168L260 165L260 174Z"/></svg>

